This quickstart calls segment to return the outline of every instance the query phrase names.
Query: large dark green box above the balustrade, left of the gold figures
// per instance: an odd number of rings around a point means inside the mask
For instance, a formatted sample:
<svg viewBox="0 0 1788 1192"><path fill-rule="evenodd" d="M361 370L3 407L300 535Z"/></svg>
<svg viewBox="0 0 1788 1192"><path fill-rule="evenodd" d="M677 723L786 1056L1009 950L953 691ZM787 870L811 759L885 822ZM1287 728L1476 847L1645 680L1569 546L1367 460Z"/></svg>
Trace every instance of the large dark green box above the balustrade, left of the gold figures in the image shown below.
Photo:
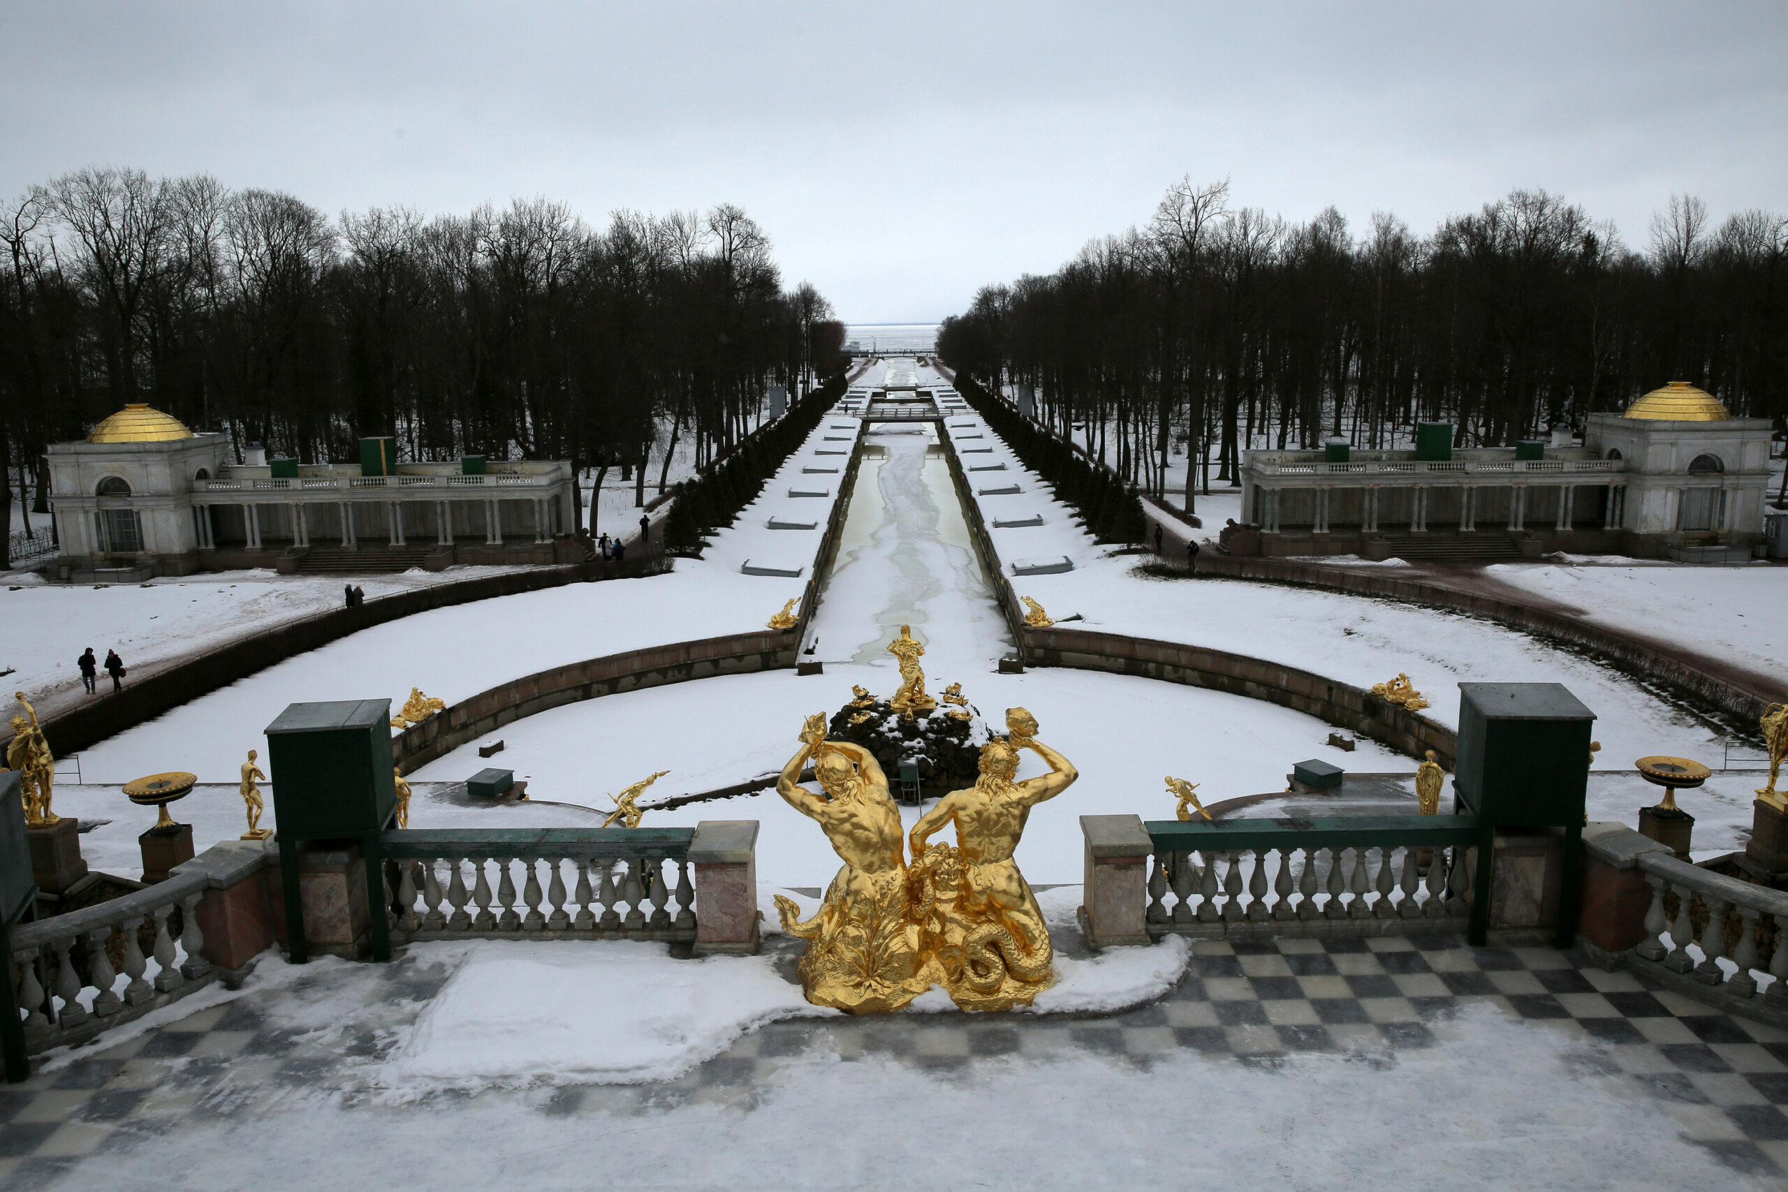
<svg viewBox="0 0 1788 1192"><path fill-rule="evenodd" d="M291 704L266 726L266 763L281 836L384 831L397 810L392 701Z"/></svg>

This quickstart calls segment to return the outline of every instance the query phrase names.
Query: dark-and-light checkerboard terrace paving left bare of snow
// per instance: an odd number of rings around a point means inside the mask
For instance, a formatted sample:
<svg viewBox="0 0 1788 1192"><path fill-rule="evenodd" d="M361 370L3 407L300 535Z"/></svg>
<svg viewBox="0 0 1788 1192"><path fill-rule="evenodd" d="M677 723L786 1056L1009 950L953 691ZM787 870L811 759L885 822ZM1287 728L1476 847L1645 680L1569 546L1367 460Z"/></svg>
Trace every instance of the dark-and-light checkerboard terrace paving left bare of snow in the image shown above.
<svg viewBox="0 0 1788 1192"><path fill-rule="evenodd" d="M774 942L789 969L790 944ZM283 1024L245 995L0 1087L0 1187L41 1187L89 1156L123 1154L184 1115L254 1119L300 1087L365 1095L365 1067L449 972L415 954L347 972L365 986L356 990L365 1022L334 1031ZM306 983L342 974L304 978L275 997L302 997ZM674 1081L565 1087L526 1104L552 1115L688 1101L749 1108L763 1078L810 1053L889 1056L939 1074L1066 1051L1139 1069L1185 1053L1264 1069L1300 1051L1391 1063L1400 1051L1445 1045L1436 1031L1475 1003L1559 1031L1572 1070L1636 1081L1665 1103L1683 1137L1736 1172L1788 1176L1788 1031L1649 988L1629 972L1579 967L1547 947L1468 947L1450 935L1198 942L1177 988L1121 1013L790 1019L744 1035Z"/></svg>

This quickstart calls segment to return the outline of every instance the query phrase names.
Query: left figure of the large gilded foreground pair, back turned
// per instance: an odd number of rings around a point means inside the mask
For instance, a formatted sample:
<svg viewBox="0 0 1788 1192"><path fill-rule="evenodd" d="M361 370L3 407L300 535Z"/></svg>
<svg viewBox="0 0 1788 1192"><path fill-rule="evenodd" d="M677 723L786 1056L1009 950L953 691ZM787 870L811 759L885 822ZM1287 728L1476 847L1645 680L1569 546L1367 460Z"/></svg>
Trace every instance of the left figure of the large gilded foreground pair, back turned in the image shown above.
<svg viewBox="0 0 1788 1192"><path fill-rule="evenodd" d="M806 922L792 899L776 895L783 931L806 940L801 986L815 1006L899 1010L932 983L921 974L921 933L908 908L901 818L889 779L862 745L826 740L824 713L806 718L799 742L776 793L815 820L844 861ZM797 781L810 760L817 792Z"/></svg>

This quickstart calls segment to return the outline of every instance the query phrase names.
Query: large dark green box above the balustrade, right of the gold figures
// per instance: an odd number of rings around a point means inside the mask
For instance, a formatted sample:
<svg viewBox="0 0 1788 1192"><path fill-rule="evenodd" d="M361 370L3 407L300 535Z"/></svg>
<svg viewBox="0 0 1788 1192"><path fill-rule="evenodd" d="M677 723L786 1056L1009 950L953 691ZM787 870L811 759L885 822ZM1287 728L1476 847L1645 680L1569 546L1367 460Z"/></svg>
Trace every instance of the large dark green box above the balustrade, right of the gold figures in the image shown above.
<svg viewBox="0 0 1788 1192"><path fill-rule="evenodd" d="M1582 827L1593 726L1563 683L1461 683L1459 808L1489 826Z"/></svg>

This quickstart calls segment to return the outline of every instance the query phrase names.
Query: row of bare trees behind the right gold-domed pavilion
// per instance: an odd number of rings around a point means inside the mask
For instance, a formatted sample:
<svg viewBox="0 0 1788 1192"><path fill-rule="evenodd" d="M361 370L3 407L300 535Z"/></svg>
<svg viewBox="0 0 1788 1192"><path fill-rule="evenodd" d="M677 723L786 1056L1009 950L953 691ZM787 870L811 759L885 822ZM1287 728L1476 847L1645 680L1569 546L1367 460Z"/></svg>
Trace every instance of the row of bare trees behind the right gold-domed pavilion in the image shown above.
<svg viewBox="0 0 1788 1192"><path fill-rule="evenodd" d="M1291 223L1187 179L1146 227L982 290L937 350L1028 386L1041 420L1155 493L1177 443L1209 490L1212 465L1239 483L1244 447L1387 447L1418 420L1507 445L1677 379L1781 420L1788 220L1715 229L1672 197L1636 252L1557 195L1513 191L1427 238L1382 213L1355 236L1332 207Z"/></svg>

